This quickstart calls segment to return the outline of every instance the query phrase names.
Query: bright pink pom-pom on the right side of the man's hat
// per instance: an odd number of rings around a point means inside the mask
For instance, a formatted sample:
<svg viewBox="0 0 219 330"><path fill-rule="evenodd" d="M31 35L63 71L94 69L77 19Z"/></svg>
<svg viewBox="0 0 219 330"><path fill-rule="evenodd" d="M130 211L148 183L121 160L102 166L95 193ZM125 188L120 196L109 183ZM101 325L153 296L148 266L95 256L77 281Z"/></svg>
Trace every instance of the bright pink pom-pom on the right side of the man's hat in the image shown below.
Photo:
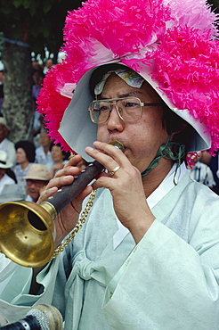
<svg viewBox="0 0 219 330"><path fill-rule="evenodd" d="M209 32L174 28L160 40L155 58L159 87L178 109L188 109L204 122L212 137L210 152L219 148L219 42Z"/></svg>

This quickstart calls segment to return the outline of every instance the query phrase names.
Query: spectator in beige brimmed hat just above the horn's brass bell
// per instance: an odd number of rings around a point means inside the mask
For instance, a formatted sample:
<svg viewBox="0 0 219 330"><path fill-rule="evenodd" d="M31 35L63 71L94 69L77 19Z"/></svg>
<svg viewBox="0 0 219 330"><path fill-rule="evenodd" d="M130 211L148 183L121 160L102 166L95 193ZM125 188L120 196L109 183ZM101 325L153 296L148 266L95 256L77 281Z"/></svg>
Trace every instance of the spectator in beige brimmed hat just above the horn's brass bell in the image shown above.
<svg viewBox="0 0 219 330"><path fill-rule="evenodd" d="M49 170L45 165L33 164L28 169L27 176L23 177L27 182L27 197L28 202L37 202L39 195L44 191L45 186L50 180Z"/></svg>

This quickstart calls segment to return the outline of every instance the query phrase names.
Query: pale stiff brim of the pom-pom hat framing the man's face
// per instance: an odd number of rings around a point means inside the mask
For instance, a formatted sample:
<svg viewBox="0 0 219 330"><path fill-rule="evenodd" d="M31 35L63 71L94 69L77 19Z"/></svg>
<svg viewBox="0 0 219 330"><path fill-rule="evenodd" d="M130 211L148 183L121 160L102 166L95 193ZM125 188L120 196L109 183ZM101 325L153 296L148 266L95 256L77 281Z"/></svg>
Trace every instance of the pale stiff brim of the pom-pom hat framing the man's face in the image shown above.
<svg viewBox="0 0 219 330"><path fill-rule="evenodd" d="M123 63L118 64L124 65ZM107 65L110 64L104 64L100 67L105 67ZM76 153L81 154L86 161L91 161L91 158L85 153L85 146L92 146L93 141L97 138L97 125L93 124L90 119L88 106L93 101L90 80L93 72L98 68L96 67L87 71L79 80L74 92L74 97L64 112L64 116L61 120L61 127L59 129L59 132L65 141L72 146ZM139 74L157 91L161 99L172 111L174 111L174 113L183 118L183 120L187 121L191 124L191 127L194 128L192 132L193 135L191 136L189 152L208 149L211 144L211 138L207 133L207 127L203 123L200 123L199 120L192 117L190 111L187 111L186 109L179 110L174 106L170 99L160 91L158 88L158 82L151 79L150 68L148 66L142 64ZM77 120L75 120L76 118Z"/></svg>

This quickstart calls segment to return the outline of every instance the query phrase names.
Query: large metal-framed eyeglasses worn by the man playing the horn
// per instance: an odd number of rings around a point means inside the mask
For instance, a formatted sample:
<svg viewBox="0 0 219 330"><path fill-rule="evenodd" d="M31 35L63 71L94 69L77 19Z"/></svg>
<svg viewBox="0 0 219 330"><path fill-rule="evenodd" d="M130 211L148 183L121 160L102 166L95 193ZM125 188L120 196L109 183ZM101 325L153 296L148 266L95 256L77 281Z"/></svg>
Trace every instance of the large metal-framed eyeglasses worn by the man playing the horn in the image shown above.
<svg viewBox="0 0 219 330"><path fill-rule="evenodd" d="M88 108L91 120L96 124L106 122L110 117L112 106L116 106L118 116L124 121L136 121L142 118L143 106L156 106L162 103L142 103L138 97L122 97L110 100L93 101Z"/></svg>

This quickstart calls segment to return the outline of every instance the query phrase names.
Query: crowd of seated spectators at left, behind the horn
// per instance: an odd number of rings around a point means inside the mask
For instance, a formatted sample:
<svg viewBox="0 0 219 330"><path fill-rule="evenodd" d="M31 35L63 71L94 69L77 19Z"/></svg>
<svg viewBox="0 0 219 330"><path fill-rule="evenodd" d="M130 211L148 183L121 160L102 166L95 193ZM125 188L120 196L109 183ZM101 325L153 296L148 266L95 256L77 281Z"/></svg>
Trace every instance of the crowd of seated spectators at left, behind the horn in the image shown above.
<svg viewBox="0 0 219 330"><path fill-rule="evenodd" d="M61 150L47 135L44 125L38 144L8 139L10 129L0 117L0 203L26 200L37 202L39 194L57 170L62 169L70 153Z"/></svg>

